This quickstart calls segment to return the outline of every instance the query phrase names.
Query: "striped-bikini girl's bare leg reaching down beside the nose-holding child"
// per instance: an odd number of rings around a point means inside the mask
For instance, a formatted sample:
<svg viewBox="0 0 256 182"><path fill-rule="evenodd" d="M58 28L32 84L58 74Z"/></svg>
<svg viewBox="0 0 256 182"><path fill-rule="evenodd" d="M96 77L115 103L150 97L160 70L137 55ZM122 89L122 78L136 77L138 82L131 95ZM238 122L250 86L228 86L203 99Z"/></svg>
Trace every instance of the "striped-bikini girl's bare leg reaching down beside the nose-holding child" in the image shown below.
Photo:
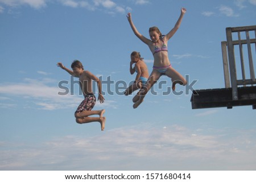
<svg viewBox="0 0 256 182"><path fill-rule="evenodd" d="M134 96L133 98L133 108L137 108L142 102L144 97L146 96L148 90L155 84L156 81L160 78L160 73L153 69L150 77L147 80L147 84L145 86L142 86L141 90Z"/></svg>

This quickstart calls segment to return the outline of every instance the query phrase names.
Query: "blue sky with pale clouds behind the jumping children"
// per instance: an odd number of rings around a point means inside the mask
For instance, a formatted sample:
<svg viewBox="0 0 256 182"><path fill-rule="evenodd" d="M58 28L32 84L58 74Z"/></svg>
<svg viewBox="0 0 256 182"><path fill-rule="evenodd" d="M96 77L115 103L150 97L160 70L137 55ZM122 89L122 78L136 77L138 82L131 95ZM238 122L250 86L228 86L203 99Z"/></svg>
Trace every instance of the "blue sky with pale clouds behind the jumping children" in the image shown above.
<svg viewBox="0 0 256 182"><path fill-rule="evenodd" d="M255 170L251 106L192 110L184 86L177 86L179 96L162 95L171 85L163 76L157 96L149 93L138 109L135 93L106 94L94 107L106 109L102 132L98 123L75 122L83 98L77 84L73 93L57 94L60 81L71 81L58 61L70 67L78 59L102 80L111 77L114 84L103 91L133 81L132 51L151 71L151 52L126 14L148 37L152 26L170 31L181 7L187 13L168 43L172 66L197 80L194 89L224 88L225 28L255 25L255 0L0 0L0 169Z"/></svg>

